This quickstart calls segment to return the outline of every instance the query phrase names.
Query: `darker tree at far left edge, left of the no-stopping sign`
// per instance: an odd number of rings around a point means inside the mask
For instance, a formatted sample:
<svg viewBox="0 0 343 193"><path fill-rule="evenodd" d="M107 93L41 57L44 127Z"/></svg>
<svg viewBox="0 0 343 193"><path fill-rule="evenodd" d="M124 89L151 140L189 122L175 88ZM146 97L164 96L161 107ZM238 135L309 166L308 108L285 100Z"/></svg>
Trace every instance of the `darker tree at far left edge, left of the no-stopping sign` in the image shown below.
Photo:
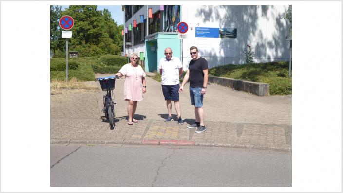
<svg viewBox="0 0 343 193"><path fill-rule="evenodd" d="M59 26L59 19L62 17L62 6L50 6L50 50L55 55L56 50L64 50L64 40Z"/></svg>

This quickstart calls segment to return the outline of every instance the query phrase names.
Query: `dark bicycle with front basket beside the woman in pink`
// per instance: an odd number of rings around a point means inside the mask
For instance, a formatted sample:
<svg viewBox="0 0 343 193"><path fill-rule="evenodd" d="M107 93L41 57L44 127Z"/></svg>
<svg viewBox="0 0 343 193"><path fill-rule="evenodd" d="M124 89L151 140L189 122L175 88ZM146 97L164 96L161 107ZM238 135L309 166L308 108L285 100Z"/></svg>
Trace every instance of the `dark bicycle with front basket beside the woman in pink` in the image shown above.
<svg viewBox="0 0 343 193"><path fill-rule="evenodd" d="M111 129L114 129L114 105L116 102L112 101L112 90L115 88L115 79L119 79L118 76L109 76L109 77L98 77L95 78L95 82L99 81L101 89L106 91L106 95L103 97L104 108L101 110L105 113L106 119L109 119ZM115 97L115 96L114 96ZM113 98L114 99L114 98Z"/></svg>

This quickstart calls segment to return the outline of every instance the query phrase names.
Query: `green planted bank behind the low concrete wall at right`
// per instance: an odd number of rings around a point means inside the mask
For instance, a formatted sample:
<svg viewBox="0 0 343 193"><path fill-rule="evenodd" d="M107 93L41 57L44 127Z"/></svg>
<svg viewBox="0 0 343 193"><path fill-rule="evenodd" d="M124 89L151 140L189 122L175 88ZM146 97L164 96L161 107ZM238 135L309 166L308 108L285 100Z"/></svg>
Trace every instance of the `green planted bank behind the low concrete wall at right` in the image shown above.
<svg viewBox="0 0 343 193"><path fill-rule="evenodd" d="M270 95L289 95L292 94L292 78L288 77L288 65L287 61L243 65L228 64L209 69L209 74L267 83Z"/></svg>

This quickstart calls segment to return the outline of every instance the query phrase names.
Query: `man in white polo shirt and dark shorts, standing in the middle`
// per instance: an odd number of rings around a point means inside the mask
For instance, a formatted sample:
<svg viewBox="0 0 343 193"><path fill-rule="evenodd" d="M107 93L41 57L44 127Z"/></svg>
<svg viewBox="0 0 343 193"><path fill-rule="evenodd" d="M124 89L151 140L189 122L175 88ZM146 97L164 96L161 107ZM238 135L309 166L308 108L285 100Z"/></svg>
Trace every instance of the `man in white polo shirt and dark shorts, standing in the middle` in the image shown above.
<svg viewBox="0 0 343 193"><path fill-rule="evenodd" d="M171 101L174 101L174 106L177 114L177 123L184 124L180 115L180 103L179 103L179 88L180 88L180 76L182 73L182 64L179 58L172 56L172 50L170 47L164 49L164 55L166 57L160 59L158 69L162 75L162 92L164 99L166 100L168 118L165 122L173 120L171 117Z"/></svg>

